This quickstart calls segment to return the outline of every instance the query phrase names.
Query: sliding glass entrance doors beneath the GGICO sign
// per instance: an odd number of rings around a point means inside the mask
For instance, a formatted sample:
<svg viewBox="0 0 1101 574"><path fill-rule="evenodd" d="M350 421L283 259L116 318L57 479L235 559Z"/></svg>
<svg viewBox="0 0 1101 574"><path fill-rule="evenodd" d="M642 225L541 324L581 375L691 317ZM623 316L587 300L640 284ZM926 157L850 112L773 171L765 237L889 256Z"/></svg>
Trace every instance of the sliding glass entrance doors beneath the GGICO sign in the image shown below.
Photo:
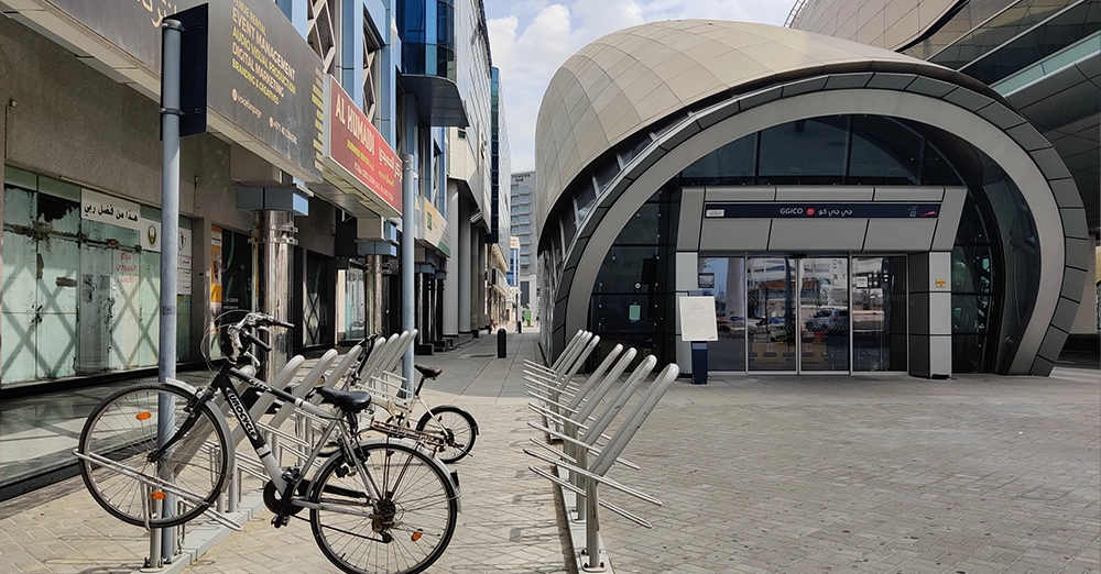
<svg viewBox="0 0 1101 574"><path fill-rule="evenodd" d="M700 257L711 371L906 371L906 256Z"/></svg>

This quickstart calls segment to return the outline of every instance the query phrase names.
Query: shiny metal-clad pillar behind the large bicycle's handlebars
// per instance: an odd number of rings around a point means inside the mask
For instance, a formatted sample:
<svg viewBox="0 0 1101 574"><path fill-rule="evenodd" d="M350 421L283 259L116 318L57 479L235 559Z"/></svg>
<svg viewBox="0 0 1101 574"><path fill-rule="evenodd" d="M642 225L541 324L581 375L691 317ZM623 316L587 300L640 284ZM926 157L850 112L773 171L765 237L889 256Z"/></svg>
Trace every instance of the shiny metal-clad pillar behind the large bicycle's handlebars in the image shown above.
<svg viewBox="0 0 1101 574"><path fill-rule="evenodd" d="M252 308L291 322L291 247L298 243L294 239L294 213L261 209L253 212L252 222ZM291 334L286 329L273 329L266 336L272 350L259 376L275 380L291 356Z"/></svg>

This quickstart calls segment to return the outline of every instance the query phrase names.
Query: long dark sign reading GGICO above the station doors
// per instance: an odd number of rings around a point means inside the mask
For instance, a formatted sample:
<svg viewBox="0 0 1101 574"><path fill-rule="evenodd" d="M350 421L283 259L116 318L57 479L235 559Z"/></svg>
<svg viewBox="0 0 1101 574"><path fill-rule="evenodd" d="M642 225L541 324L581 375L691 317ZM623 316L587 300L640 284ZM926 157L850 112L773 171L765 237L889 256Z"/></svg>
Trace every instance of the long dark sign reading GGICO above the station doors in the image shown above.
<svg viewBox="0 0 1101 574"><path fill-rule="evenodd" d="M939 216L939 203L800 201L704 205L704 217L711 219L936 219Z"/></svg>

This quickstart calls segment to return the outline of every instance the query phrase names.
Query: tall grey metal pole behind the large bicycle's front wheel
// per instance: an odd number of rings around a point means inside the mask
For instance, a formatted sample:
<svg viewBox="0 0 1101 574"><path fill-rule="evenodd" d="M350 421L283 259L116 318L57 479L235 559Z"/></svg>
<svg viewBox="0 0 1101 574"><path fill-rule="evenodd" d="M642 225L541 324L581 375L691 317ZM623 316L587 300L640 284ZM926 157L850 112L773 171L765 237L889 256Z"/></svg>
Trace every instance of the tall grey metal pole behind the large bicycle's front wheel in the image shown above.
<svg viewBox="0 0 1101 574"><path fill-rule="evenodd" d="M179 238L179 52L183 25L176 20L161 23L161 325L159 334L157 378L176 377L176 250ZM161 394L157 402L157 440L163 444L175 426L175 405L171 395ZM164 477L171 479L171 477ZM165 516L171 516L176 500L167 495L162 501ZM162 556L175 555L175 529L164 529Z"/></svg>

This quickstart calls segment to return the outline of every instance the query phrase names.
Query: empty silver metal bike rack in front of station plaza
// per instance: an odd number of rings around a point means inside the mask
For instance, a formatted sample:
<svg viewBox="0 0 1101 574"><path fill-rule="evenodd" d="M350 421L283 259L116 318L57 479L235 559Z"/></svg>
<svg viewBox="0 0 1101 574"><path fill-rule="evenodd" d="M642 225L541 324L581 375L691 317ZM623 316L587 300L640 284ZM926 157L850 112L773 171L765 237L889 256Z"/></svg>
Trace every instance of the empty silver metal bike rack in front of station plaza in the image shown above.
<svg viewBox="0 0 1101 574"><path fill-rule="evenodd" d="M657 364L653 355L647 356L628 376L619 390L612 394L613 397L606 400L637 352L630 349L624 353L622 345L615 345L582 384L574 385L571 379L577 369L576 365L569 363L571 360L584 362L582 355L588 354L584 350L590 345L591 339L593 338L586 338L579 332L564 352L564 355L573 352L573 358L560 361L552 368L541 367L541 373L549 376L533 376L537 379L538 390L530 393L536 400L528 402L528 407L542 416L544 423L530 421L527 424L541 431L545 439L532 438L531 441L542 450L524 449L524 452L553 465L553 471L530 466L531 472L569 493L566 506L570 518L571 538L581 536L585 538L584 549L575 555L578 566L585 572L607 572L610 565L600 539L599 508L611 510L644 528L652 526L639 516L600 499L598 486L614 488L661 506L662 501L657 498L615 482L607 474L617 463L640 470L636 464L623 460L620 455L676 379L679 368L676 364L666 366L643 390L643 384ZM591 352L591 347L589 351ZM580 361L578 357L581 357ZM567 373L569 374L567 378L570 379L568 383L555 376ZM548 380L557 384L550 386ZM565 393L567 387L576 390L573 394ZM555 389L559 393L554 393ZM568 399L564 400L566 397ZM626 409L632 398L635 398L633 407ZM629 412L622 418L619 427L610 437L606 434L612 421L624 410ZM554 445L557 441L562 441L560 450Z"/></svg>

